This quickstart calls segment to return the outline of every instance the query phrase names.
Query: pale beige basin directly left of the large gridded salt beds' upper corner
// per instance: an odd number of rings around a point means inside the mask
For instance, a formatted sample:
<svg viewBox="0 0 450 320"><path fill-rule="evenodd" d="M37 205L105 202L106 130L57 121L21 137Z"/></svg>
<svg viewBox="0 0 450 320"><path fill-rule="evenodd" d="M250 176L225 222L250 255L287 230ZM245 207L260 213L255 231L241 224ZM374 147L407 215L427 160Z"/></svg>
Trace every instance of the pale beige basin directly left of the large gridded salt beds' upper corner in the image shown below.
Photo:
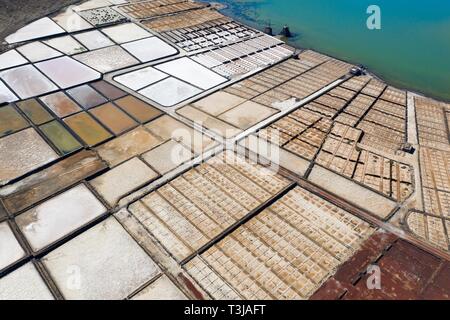
<svg viewBox="0 0 450 320"><path fill-rule="evenodd" d="M114 207L122 197L157 177L158 174L139 158L133 158L95 178L90 184Z"/></svg>

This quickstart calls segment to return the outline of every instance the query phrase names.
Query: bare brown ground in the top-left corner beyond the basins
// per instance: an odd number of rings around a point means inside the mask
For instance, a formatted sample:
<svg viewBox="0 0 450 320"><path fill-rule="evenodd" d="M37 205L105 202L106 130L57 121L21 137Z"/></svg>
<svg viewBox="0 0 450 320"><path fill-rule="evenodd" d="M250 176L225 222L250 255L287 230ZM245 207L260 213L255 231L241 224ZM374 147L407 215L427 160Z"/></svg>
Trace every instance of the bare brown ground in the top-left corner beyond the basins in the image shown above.
<svg viewBox="0 0 450 320"><path fill-rule="evenodd" d="M0 0L0 43L27 23L80 0ZM0 44L0 52L6 49Z"/></svg>

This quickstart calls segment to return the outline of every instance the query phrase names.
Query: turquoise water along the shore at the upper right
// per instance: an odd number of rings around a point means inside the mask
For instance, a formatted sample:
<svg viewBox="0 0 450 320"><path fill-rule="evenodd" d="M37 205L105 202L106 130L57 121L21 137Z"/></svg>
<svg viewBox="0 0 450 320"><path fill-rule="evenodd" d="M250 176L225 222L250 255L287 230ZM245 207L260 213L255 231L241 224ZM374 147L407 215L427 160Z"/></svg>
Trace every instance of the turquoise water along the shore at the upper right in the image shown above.
<svg viewBox="0 0 450 320"><path fill-rule="evenodd" d="M390 84L450 101L448 0L214 0L224 13L278 33L291 42L364 64ZM381 8L381 30L366 26L369 5Z"/></svg>

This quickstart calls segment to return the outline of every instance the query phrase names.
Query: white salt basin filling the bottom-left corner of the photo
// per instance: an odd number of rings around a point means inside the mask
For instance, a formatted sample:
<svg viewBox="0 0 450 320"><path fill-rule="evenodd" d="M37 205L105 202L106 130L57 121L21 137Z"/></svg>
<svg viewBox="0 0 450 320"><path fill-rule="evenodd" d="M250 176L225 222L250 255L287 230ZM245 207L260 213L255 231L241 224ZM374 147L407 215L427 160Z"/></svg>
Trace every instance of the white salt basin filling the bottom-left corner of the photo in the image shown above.
<svg viewBox="0 0 450 320"><path fill-rule="evenodd" d="M0 300L54 300L32 262L0 279Z"/></svg>

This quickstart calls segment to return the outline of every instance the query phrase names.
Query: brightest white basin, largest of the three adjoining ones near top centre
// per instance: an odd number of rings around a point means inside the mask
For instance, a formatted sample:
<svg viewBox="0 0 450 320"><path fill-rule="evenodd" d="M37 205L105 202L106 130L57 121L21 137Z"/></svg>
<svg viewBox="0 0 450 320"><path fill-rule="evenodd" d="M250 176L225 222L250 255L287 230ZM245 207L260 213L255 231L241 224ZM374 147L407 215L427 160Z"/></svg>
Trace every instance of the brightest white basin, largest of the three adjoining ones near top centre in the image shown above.
<svg viewBox="0 0 450 320"><path fill-rule="evenodd" d="M157 65L156 68L203 90L211 89L228 81L226 78L186 57Z"/></svg>

